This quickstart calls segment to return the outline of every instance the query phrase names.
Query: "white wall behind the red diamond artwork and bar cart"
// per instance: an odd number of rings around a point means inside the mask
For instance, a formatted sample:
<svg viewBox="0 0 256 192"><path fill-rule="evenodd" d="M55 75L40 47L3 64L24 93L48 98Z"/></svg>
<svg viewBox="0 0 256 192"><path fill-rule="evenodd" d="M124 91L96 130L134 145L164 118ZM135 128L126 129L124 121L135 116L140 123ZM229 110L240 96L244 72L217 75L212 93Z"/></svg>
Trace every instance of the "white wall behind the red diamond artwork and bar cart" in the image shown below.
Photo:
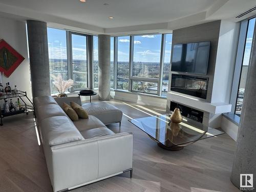
<svg viewBox="0 0 256 192"><path fill-rule="evenodd" d="M30 68L27 49L26 24L16 20L0 17L0 39L4 39L25 59L11 74L9 78L3 77L3 83L10 82L12 88L16 84L17 88L27 91L28 97L31 98L30 86Z"/></svg>

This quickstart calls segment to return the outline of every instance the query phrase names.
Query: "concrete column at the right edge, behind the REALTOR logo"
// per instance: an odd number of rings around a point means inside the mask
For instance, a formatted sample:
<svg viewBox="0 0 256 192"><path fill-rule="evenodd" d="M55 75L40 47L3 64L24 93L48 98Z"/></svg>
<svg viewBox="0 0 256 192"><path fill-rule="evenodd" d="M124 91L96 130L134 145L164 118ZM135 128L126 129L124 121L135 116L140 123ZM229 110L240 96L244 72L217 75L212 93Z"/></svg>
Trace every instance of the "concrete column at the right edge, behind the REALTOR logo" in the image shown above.
<svg viewBox="0 0 256 192"><path fill-rule="evenodd" d="M240 174L254 174L256 184L256 25L252 41L249 71L240 119L237 151L231 174L232 183L240 187ZM254 188L255 189L255 188ZM254 190L253 190L254 191Z"/></svg>

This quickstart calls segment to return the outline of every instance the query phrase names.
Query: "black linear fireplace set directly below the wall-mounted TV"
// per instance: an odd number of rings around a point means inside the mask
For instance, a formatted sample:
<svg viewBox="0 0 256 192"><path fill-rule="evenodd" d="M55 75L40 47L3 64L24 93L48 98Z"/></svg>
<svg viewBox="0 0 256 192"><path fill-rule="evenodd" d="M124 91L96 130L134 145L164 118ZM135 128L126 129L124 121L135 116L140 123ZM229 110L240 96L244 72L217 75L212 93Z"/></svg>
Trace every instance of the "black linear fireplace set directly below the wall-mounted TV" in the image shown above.
<svg viewBox="0 0 256 192"><path fill-rule="evenodd" d="M170 90L206 99L208 78L172 74Z"/></svg>

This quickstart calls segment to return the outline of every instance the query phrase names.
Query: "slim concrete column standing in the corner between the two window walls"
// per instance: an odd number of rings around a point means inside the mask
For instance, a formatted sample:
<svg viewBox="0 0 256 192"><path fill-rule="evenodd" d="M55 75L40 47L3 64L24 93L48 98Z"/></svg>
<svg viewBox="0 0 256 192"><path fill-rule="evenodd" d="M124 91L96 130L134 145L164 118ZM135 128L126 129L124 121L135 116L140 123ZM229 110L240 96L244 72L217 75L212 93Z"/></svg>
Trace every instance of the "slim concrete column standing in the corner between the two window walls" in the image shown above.
<svg viewBox="0 0 256 192"><path fill-rule="evenodd" d="M99 100L110 100L110 36L98 35Z"/></svg>

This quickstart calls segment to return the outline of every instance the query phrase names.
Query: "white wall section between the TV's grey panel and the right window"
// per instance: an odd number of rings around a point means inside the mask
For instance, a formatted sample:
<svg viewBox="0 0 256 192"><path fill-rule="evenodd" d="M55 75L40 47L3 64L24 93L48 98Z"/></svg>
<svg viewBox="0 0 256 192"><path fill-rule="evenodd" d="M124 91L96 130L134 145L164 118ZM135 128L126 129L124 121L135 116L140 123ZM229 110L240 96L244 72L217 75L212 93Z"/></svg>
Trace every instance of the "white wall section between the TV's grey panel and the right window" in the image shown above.
<svg viewBox="0 0 256 192"><path fill-rule="evenodd" d="M211 102L229 103L239 39L239 23L221 20Z"/></svg>

